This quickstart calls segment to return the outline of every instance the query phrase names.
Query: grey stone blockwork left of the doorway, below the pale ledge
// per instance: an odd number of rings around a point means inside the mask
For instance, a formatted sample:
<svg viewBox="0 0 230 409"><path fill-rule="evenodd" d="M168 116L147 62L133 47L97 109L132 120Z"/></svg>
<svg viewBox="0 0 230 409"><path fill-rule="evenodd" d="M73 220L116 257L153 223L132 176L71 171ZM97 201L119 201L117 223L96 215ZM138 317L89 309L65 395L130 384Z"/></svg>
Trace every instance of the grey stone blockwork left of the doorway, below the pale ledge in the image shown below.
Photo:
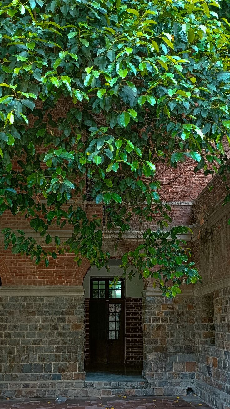
<svg viewBox="0 0 230 409"><path fill-rule="evenodd" d="M0 380L84 377L83 297L0 297Z"/></svg>

